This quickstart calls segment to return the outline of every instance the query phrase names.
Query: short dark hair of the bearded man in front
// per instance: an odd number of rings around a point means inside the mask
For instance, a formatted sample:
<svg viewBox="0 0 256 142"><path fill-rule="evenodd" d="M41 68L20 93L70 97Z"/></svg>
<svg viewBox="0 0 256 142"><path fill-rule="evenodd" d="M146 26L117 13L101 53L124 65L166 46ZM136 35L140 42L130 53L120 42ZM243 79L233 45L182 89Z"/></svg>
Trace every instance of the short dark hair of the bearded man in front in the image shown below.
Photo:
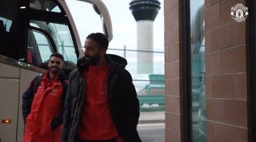
<svg viewBox="0 0 256 142"><path fill-rule="evenodd" d="M108 49L109 40L106 37L106 35L104 35L100 32L92 33L92 34L88 35L86 37L86 39L93 39L100 46L100 48Z"/></svg>

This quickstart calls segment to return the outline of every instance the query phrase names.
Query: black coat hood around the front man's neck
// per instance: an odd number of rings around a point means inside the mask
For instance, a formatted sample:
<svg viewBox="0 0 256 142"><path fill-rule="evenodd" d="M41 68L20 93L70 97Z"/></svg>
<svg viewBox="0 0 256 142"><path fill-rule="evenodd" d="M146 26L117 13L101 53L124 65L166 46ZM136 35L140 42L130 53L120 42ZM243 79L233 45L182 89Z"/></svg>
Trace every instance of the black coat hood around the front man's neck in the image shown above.
<svg viewBox="0 0 256 142"><path fill-rule="evenodd" d="M106 57L106 62L110 69L113 69L116 66L119 66L120 68L125 68L125 66L127 65L127 60L118 55L106 54L105 57ZM77 60L76 66L79 72L81 73L88 69L89 64L85 62L85 56Z"/></svg>

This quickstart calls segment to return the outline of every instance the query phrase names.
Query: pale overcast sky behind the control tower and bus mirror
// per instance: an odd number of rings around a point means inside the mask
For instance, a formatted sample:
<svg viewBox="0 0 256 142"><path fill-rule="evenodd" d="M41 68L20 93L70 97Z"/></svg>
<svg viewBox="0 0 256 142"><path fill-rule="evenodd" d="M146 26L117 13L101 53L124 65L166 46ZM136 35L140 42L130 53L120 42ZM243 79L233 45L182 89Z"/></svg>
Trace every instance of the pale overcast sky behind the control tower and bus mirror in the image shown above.
<svg viewBox="0 0 256 142"><path fill-rule="evenodd" d="M130 1L102 0L109 10L112 19L113 40L109 48L127 49L137 48L137 23L129 9ZM154 51L164 51L164 14L163 0L159 0L161 9L154 21ZM85 37L91 32L102 32L102 24L99 16L92 6L84 2L74 0L67 1L69 9L75 20L80 40L84 44ZM90 12L88 12L90 11Z"/></svg>

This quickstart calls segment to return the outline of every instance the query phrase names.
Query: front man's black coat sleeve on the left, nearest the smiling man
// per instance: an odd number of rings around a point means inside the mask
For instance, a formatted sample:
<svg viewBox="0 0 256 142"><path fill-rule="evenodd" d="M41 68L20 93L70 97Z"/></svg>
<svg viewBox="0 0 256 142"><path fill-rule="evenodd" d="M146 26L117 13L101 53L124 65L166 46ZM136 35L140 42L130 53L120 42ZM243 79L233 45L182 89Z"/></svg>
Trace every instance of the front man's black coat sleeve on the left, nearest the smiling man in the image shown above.
<svg viewBox="0 0 256 142"><path fill-rule="evenodd" d="M71 123L71 107L72 107L72 80L74 78L74 72L71 72L69 75L69 82L68 82L68 91L65 96L65 105L64 105L64 115L63 115L63 129L61 131L61 141L67 141L68 139L68 131L69 131L69 125Z"/></svg>

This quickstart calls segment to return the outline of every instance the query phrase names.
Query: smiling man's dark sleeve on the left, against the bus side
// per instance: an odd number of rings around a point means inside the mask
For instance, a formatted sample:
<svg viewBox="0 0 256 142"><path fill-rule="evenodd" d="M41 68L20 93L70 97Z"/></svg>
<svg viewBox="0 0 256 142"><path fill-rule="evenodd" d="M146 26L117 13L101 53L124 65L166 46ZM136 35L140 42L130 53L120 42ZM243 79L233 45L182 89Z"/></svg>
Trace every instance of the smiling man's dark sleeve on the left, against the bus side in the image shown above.
<svg viewBox="0 0 256 142"><path fill-rule="evenodd" d="M31 111L31 105L34 98L34 90L35 90L34 87L37 79L38 79L38 76L36 76L31 81L30 86L28 86L28 89L22 95L22 115L23 115L24 121L26 120L28 114L30 114L30 111Z"/></svg>

